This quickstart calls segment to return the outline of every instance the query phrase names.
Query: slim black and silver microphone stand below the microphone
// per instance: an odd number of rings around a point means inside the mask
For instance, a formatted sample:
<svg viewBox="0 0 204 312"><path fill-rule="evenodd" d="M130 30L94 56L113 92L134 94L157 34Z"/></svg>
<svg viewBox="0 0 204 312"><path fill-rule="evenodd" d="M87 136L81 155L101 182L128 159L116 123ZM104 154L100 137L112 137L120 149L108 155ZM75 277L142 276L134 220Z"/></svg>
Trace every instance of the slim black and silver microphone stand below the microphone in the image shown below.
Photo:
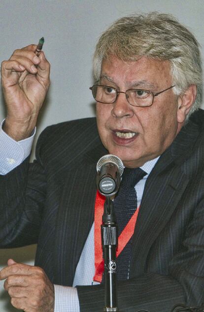
<svg viewBox="0 0 204 312"><path fill-rule="evenodd" d="M106 197L102 216L102 249L104 259L105 307L103 312L118 312L116 249L118 245L118 225L113 201Z"/></svg>

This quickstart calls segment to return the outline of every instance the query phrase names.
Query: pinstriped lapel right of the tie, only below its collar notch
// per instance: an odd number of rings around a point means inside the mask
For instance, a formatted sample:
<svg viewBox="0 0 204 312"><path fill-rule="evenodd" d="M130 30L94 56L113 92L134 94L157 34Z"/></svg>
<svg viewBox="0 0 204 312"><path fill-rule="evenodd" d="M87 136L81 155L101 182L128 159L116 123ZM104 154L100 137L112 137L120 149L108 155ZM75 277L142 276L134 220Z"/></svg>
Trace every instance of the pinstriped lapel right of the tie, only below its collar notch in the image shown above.
<svg viewBox="0 0 204 312"><path fill-rule="evenodd" d="M188 182L188 177L175 168L149 177L133 237L134 274L144 272L149 249L170 220Z"/></svg>

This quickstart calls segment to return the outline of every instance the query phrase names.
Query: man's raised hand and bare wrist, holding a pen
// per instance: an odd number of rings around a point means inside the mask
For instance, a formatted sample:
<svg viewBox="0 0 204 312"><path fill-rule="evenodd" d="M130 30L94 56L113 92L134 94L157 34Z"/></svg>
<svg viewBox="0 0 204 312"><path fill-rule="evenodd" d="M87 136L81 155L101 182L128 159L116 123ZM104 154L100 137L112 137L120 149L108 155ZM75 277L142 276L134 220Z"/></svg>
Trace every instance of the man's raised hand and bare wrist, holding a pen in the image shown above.
<svg viewBox="0 0 204 312"><path fill-rule="evenodd" d="M16 141L29 137L49 87L50 64L32 44L13 52L1 64L1 83L7 107L4 131Z"/></svg>

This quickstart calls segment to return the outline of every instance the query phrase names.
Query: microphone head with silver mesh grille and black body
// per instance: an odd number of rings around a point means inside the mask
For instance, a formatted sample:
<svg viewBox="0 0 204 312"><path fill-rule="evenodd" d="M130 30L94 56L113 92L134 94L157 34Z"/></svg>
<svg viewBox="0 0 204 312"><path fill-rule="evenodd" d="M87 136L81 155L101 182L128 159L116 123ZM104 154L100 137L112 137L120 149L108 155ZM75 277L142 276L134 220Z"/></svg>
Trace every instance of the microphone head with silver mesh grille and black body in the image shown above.
<svg viewBox="0 0 204 312"><path fill-rule="evenodd" d="M122 160L115 155L108 154L99 159L97 163L97 188L102 195L110 197L117 193L123 169Z"/></svg>

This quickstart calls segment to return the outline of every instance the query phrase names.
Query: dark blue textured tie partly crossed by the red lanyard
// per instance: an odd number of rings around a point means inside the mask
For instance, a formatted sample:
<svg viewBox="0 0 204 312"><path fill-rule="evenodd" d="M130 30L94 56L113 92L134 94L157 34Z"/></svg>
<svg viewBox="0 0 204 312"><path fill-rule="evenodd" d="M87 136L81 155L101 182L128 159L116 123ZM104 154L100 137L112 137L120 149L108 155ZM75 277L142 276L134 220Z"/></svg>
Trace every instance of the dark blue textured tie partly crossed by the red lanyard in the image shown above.
<svg viewBox="0 0 204 312"><path fill-rule="evenodd" d="M146 175L140 168L125 168L120 189L114 199L114 209L118 223L118 234L123 231L137 208L135 185ZM129 278L132 238L117 258L118 280Z"/></svg>

